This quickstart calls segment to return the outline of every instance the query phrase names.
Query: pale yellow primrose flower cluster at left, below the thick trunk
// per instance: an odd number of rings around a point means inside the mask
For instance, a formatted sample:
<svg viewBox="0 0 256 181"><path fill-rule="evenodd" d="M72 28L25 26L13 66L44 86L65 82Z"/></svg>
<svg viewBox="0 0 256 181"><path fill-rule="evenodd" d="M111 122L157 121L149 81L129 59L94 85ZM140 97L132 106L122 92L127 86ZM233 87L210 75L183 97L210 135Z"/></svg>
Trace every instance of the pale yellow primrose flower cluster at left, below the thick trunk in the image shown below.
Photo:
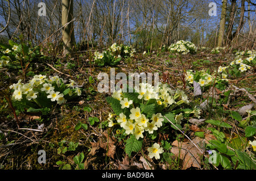
<svg viewBox="0 0 256 181"><path fill-rule="evenodd" d="M75 81L70 80L71 83L64 85L63 79L59 76L54 76L47 78L46 75L34 75L34 77L28 81L28 83L22 83L22 79L19 79L18 83L14 83L10 86L10 89L13 89L12 99L14 101L21 101L23 98L27 100L34 100L36 103L36 98L41 95L46 95L48 99L51 99L51 102L57 102L57 104L63 104L67 102L64 98L64 94L72 96L76 94L81 95L81 89L75 88ZM64 87L65 92L61 90L56 91ZM72 89L65 89L67 87L72 87Z"/></svg>

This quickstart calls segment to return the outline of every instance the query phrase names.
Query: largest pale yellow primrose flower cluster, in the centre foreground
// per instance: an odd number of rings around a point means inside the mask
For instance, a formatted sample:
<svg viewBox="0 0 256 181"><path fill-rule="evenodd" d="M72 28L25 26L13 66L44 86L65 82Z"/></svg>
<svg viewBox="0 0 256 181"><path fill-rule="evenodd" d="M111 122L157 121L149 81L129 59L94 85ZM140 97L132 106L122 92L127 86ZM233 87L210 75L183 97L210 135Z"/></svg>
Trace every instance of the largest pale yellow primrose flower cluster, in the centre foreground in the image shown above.
<svg viewBox="0 0 256 181"><path fill-rule="evenodd" d="M135 88L138 92L138 100L142 104L137 104L134 100L125 97L122 90L113 92L112 98L119 100L123 112L119 115L109 114L109 127L119 124L121 128L125 129L126 134L134 134L137 138L143 138L143 133L148 132L152 134L163 125L163 115L158 110L172 109L182 103L189 103L188 96L182 90L171 90L167 84L159 83L158 90L154 90L154 86L148 83L140 83L140 87ZM126 93L129 94L129 93ZM179 98L179 100L178 100ZM148 106L147 102L154 100L155 106L150 111L143 110L143 107ZM116 121L116 122L115 122Z"/></svg>

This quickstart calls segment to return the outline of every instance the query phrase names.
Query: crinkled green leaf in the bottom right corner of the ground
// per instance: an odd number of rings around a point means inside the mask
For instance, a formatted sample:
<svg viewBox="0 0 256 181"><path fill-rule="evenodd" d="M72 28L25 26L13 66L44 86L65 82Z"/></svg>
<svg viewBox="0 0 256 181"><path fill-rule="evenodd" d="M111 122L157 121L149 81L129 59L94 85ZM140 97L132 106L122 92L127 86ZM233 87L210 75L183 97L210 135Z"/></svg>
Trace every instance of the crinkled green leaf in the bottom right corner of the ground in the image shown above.
<svg viewBox="0 0 256 181"><path fill-rule="evenodd" d="M255 170L256 169L256 163L251 159L251 157L240 150L236 150L236 154L240 162L242 162L241 165L238 166L240 169L246 169L246 170Z"/></svg>

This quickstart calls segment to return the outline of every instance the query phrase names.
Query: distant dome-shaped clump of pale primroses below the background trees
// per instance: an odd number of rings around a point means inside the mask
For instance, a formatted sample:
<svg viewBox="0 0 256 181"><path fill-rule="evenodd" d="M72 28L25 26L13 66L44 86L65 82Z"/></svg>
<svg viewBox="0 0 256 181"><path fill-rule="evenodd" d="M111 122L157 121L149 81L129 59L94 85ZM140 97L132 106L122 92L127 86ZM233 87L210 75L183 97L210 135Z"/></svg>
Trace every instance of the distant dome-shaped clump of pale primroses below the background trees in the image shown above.
<svg viewBox="0 0 256 181"><path fill-rule="evenodd" d="M175 44L171 44L168 49L173 53L181 54L196 53L197 51L197 47L195 44L191 43L191 41L184 40L180 40L177 41Z"/></svg>

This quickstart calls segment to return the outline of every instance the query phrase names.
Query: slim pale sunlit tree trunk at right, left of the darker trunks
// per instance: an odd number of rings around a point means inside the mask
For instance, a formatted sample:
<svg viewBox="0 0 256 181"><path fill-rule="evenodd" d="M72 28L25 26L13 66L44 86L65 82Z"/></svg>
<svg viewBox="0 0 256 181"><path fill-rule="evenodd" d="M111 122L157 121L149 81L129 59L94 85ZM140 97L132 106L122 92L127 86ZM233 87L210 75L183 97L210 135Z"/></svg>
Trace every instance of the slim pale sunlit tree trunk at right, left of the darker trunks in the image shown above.
<svg viewBox="0 0 256 181"><path fill-rule="evenodd" d="M224 40L227 3L228 3L228 0L223 0L222 10L221 10L220 30L218 32L218 47L222 47L223 40Z"/></svg>

